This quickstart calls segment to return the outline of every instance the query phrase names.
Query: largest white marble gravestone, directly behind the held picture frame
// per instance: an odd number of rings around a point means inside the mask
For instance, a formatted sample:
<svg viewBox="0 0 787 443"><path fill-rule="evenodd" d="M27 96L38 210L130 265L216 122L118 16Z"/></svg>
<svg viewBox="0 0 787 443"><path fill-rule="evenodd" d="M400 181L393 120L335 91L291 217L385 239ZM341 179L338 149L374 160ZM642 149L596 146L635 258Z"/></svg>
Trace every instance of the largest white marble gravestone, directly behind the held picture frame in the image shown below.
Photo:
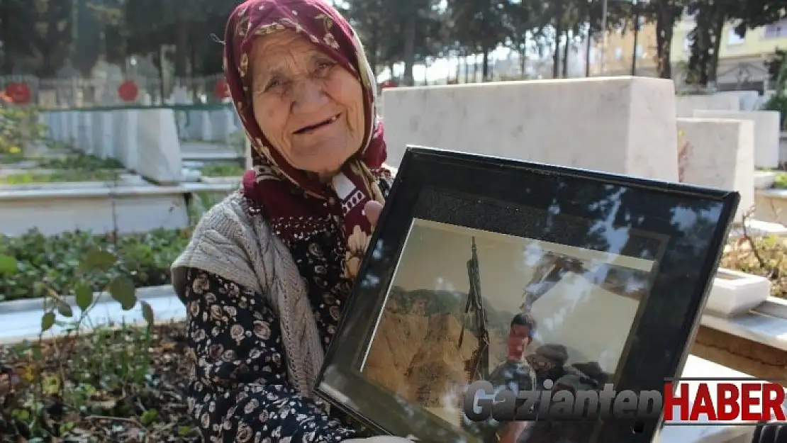
<svg viewBox="0 0 787 443"><path fill-rule="evenodd" d="M669 79L402 87L382 95L394 167L410 144L678 181Z"/></svg>

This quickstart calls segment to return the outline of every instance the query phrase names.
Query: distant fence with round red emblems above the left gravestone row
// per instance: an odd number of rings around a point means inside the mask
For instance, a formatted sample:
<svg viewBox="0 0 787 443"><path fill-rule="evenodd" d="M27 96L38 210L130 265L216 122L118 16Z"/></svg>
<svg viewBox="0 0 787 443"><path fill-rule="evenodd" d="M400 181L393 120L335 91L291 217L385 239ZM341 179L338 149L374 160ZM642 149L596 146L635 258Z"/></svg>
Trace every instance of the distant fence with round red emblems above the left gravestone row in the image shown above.
<svg viewBox="0 0 787 443"><path fill-rule="evenodd" d="M2 76L0 90L17 102L45 109L77 109L102 106L150 106L164 104L221 103L226 101L224 76L176 78L172 93L164 93L159 78L58 78Z"/></svg>

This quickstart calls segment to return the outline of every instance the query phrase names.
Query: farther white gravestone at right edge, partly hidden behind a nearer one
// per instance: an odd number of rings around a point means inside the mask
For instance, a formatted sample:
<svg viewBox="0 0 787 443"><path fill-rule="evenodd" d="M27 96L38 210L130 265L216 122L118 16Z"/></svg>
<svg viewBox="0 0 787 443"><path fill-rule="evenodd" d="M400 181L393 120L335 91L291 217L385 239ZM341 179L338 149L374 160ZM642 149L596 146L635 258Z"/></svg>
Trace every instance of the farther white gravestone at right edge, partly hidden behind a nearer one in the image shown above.
<svg viewBox="0 0 787 443"><path fill-rule="evenodd" d="M778 168L778 111L715 111L698 109L695 117L751 120L754 122L754 164L757 168Z"/></svg>

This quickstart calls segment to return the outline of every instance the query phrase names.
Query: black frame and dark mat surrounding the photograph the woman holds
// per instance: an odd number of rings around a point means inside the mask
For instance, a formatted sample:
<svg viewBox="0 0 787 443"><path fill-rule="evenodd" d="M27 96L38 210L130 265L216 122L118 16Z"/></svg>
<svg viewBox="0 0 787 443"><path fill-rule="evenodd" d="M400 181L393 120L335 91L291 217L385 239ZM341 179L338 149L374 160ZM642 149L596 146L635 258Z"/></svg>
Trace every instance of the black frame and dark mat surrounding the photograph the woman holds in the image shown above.
<svg viewBox="0 0 787 443"><path fill-rule="evenodd" d="M614 253L644 257L654 266L608 375L615 389L661 391L665 378L682 372L739 199L727 190L408 146L316 393L376 434L434 443L481 441L360 371L414 220L602 253L614 249L611 237L603 245L593 226L603 220L623 229L626 241ZM661 423L599 419L572 443L650 442Z"/></svg>

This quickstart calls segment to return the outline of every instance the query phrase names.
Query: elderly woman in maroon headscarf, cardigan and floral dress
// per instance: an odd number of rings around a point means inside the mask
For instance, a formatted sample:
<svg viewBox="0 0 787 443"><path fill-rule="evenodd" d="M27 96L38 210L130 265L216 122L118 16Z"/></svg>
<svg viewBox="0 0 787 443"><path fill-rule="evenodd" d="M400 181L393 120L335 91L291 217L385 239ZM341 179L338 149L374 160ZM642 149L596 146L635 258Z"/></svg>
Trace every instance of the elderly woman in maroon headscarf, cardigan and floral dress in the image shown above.
<svg viewBox="0 0 787 443"><path fill-rule="evenodd" d="M323 0L247 0L224 48L254 168L172 265L190 415L213 442L407 441L357 438L312 392L390 190L360 39Z"/></svg>

